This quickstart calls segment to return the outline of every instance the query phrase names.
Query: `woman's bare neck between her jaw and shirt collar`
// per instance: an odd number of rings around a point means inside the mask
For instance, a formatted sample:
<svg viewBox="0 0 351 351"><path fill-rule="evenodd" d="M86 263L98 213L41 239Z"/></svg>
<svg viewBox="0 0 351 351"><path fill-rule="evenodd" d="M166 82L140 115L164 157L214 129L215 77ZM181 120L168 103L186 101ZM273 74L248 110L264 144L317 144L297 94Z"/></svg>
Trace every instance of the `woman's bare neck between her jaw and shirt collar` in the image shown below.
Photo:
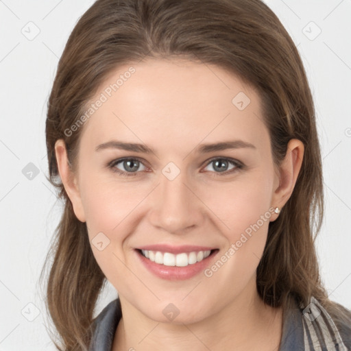
<svg viewBox="0 0 351 351"><path fill-rule="evenodd" d="M246 290L246 289L245 289ZM191 324L147 318L122 296L122 315L112 351L121 350L278 350L282 309L263 304L256 290L243 291L215 314Z"/></svg>

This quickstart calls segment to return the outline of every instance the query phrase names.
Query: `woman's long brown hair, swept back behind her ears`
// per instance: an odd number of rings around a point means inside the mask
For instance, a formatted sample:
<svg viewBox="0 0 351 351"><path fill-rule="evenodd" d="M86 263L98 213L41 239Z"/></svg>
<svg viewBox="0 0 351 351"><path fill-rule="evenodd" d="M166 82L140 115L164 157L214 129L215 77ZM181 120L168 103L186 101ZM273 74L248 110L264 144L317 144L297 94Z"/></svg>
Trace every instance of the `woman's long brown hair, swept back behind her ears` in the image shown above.
<svg viewBox="0 0 351 351"><path fill-rule="evenodd" d="M47 110L48 180L64 202L45 263L53 257L46 303L61 338L61 346L54 341L58 350L87 350L106 277L93 256L86 223L75 217L60 182L54 145L64 140L74 170L83 128L65 131L84 114L108 74L144 58L180 56L216 64L258 90L275 165L291 138L304 143L295 189L278 219L269 223L257 268L261 298L284 311L292 298L306 305L312 295L330 313L341 308L328 299L314 247L324 199L313 98L298 49L277 16L260 0L98 0L66 43Z"/></svg>

